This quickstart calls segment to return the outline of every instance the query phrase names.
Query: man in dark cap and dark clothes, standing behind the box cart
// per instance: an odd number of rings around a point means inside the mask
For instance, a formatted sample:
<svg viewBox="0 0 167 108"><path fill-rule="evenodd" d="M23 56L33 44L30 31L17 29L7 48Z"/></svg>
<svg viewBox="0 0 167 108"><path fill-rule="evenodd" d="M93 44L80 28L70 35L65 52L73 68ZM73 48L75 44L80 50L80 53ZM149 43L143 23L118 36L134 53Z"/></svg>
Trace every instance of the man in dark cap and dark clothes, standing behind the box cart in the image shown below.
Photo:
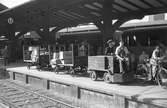
<svg viewBox="0 0 167 108"><path fill-rule="evenodd" d="M113 55L115 52L115 42L113 40L107 41L108 47L105 49L105 55Z"/></svg>

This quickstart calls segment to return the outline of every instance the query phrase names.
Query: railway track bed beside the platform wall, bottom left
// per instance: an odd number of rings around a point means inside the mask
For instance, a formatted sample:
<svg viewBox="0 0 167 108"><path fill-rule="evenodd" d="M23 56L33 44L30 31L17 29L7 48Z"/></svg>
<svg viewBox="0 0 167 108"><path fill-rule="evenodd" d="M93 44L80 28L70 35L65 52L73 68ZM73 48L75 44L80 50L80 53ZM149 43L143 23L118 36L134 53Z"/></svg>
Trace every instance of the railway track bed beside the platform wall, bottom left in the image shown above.
<svg viewBox="0 0 167 108"><path fill-rule="evenodd" d="M79 108L37 91L10 80L0 80L0 108Z"/></svg>

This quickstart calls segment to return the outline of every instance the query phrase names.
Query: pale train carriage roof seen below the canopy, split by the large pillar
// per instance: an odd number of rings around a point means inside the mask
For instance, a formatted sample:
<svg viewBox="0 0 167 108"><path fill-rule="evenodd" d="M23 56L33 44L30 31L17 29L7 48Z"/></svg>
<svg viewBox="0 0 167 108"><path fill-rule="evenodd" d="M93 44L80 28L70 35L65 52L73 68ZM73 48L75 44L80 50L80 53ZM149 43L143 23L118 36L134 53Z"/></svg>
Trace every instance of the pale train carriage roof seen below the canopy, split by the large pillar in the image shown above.
<svg viewBox="0 0 167 108"><path fill-rule="evenodd" d="M135 31L135 30L153 30L153 29L166 29L167 20L148 21L139 23L125 23L120 26L116 32L121 31ZM95 25L84 25L80 27L66 28L59 31L61 35L75 35L75 34L91 34L100 33Z"/></svg>

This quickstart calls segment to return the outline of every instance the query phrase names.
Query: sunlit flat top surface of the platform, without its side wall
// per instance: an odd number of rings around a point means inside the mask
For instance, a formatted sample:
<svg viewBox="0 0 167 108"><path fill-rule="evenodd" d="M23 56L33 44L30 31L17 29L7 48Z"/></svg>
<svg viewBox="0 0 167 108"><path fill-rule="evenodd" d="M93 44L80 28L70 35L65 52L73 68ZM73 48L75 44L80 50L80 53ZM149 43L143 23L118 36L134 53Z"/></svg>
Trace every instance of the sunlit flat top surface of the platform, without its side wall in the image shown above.
<svg viewBox="0 0 167 108"><path fill-rule="evenodd" d="M8 66L8 71L37 76L52 81L64 82L67 84L77 85L83 88L91 88L106 93L115 93L123 95L130 99L154 103L156 105L167 107L167 89L157 85L148 85L140 83L131 84L107 84L103 81L92 81L87 77L73 77L60 72L56 74L48 71L38 71L35 68L28 70L26 66Z"/></svg>

